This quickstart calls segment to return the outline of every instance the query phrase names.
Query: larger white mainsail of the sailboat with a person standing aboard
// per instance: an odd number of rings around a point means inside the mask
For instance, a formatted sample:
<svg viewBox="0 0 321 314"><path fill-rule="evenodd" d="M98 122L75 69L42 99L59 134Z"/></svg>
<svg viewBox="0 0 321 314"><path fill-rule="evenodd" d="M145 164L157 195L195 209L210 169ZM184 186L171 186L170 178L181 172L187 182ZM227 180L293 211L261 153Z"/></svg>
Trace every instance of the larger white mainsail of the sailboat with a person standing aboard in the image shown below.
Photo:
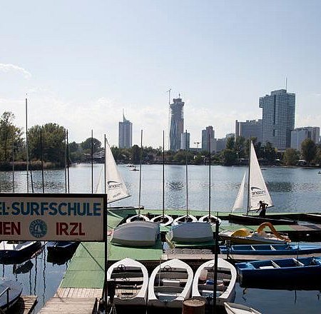
<svg viewBox="0 0 321 314"><path fill-rule="evenodd" d="M250 186L249 186L249 211L255 211L260 207L259 201L267 203L267 207L273 206L269 191L265 185L262 171L258 163L253 143L250 148Z"/></svg>

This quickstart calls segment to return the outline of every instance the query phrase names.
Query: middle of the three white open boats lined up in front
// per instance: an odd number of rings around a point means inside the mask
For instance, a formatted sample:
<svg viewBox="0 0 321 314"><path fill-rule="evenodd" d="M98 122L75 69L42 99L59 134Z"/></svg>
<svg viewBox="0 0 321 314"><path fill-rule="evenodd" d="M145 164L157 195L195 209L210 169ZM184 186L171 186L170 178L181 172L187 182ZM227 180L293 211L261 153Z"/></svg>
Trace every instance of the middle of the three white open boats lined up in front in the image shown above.
<svg viewBox="0 0 321 314"><path fill-rule="evenodd" d="M182 260L174 258L158 265L148 284L148 306L182 308L190 298L193 270Z"/></svg>

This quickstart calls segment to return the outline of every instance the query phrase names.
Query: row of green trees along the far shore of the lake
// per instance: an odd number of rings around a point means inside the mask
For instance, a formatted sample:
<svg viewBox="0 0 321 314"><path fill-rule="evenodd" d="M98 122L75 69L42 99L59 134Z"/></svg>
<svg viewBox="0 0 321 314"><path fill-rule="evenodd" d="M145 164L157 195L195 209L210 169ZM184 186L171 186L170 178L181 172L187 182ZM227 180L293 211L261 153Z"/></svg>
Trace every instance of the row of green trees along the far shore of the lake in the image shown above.
<svg viewBox="0 0 321 314"><path fill-rule="evenodd" d="M66 141L66 129L57 123L46 123L43 126L32 126L27 134L22 128L14 124L14 113L4 112L0 117L0 167L9 169L12 161L15 168L26 166L29 160L31 167L39 168L44 164L45 168L61 168L66 164L76 162L90 162L93 156L95 161L103 161L103 145L97 138L86 138L81 143ZM26 137L28 141L26 141ZM266 163L279 161L285 166L296 166L300 159L304 159L307 166L321 164L321 146L315 144L309 138L302 142L301 151L288 148L285 152L277 151L271 143L263 146L252 138L258 159ZM28 144L28 145L26 145ZM184 164L186 158L188 163L204 164L209 161L213 164L225 166L238 165L248 158L250 141L242 136L230 137L226 147L220 153L209 153L208 151L165 151L166 163ZM163 148L152 148L151 146L141 148L134 145L131 148L111 147L113 156L118 163L138 164L161 163L163 159ZM27 158L28 157L28 158Z"/></svg>

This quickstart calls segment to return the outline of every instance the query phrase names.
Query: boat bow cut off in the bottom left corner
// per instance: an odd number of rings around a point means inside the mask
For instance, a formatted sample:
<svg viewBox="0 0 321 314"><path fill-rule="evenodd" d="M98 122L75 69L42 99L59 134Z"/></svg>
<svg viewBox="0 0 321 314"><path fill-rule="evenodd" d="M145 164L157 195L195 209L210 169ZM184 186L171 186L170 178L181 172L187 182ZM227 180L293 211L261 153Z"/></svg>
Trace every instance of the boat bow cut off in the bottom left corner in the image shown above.
<svg viewBox="0 0 321 314"><path fill-rule="evenodd" d="M7 293L4 290L9 288L9 298L7 298ZM14 303L20 298L22 293L22 284L19 281L6 280L4 278L0 279L0 309L6 311L11 308ZM8 303L9 299L9 303Z"/></svg>

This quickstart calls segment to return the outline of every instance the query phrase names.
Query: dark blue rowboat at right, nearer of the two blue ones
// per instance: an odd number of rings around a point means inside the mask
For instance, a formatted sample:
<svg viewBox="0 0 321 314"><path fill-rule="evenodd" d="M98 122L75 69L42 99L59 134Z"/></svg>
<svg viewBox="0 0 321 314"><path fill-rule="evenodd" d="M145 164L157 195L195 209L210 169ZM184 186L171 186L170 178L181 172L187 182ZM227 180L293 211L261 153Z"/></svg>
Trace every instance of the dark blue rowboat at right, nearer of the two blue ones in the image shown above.
<svg viewBox="0 0 321 314"><path fill-rule="evenodd" d="M235 265L244 288L321 289L321 258L282 258Z"/></svg>

